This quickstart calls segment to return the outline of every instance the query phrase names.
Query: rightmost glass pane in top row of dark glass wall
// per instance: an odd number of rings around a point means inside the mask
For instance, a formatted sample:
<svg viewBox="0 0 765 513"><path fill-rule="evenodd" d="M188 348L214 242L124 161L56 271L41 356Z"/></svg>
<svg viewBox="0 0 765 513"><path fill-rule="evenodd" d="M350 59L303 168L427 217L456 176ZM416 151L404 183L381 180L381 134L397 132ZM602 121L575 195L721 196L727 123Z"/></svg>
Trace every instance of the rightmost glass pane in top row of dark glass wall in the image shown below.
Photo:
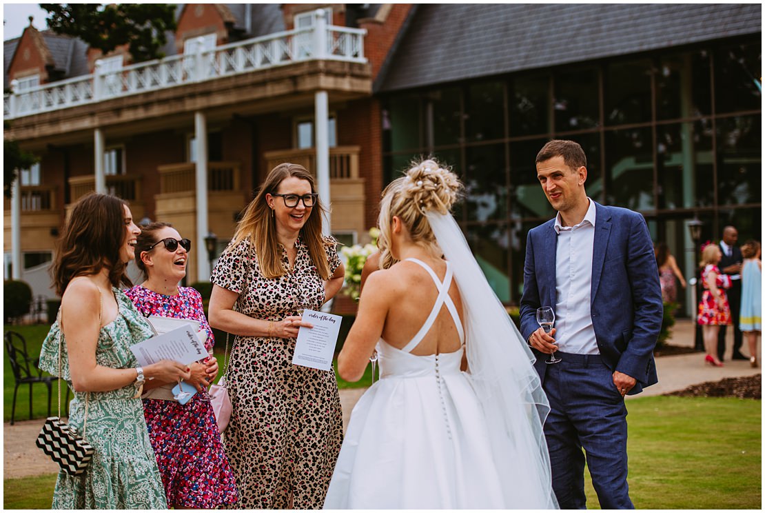
<svg viewBox="0 0 765 513"><path fill-rule="evenodd" d="M715 53L715 108L718 113L762 108L760 42Z"/></svg>

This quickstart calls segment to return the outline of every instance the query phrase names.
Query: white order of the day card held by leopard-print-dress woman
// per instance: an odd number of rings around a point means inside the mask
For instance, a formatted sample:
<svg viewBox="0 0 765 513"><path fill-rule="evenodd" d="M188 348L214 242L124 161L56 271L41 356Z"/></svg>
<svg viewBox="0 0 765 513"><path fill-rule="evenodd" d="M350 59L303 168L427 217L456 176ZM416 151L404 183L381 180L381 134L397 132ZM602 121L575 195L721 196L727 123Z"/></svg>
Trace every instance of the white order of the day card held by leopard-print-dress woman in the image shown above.
<svg viewBox="0 0 765 513"><path fill-rule="evenodd" d="M304 310L303 320L310 322L314 327L301 326L298 330L292 363L329 371L332 368L332 357L343 318L332 313Z"/></svg>

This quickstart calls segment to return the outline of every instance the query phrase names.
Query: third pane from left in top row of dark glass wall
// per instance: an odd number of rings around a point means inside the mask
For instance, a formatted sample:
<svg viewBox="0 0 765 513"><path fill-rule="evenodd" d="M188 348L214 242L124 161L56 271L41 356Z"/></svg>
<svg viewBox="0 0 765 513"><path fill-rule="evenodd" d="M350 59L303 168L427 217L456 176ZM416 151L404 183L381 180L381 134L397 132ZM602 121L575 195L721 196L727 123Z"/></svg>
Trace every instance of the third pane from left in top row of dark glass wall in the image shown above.
<svg viewBox="0 0 765 513"><path fill-rule="evenodd" d="M468 141L502 139L505 136L504 89L501 82L479 83L468 88L465 105L465 136Z"/></svg>

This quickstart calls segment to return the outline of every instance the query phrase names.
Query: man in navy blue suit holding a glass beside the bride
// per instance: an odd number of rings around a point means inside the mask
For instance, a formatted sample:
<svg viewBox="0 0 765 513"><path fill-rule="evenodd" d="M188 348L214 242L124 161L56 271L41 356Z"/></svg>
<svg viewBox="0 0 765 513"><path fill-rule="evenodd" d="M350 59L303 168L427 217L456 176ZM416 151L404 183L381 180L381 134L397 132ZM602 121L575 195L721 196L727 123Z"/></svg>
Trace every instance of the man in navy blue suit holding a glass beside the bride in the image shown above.
<svg viewBox="0 0 765 513"><path fill-rule="evenodd" d="M587 507L584 449L601 508L634 508L624 395L657 381L663 310L653 243L642 215L588 198L578 143L548 142L536 170L558 215L529 231L520 315L550 401L553 489L562 509ZM536 321L540 306L555 311L549 333ZM561 361L545 363L553 351Z"/></svg>

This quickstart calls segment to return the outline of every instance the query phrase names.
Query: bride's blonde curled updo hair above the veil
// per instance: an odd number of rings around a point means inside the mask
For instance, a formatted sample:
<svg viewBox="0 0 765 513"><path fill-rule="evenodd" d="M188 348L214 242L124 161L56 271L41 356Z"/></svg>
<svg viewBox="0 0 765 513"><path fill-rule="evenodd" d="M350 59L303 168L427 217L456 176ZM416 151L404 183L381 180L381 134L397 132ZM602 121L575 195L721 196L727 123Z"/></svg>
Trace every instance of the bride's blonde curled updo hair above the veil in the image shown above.
<svg viewBox="0 0 765 513"><path fill-rule="evenodd" d="M401 219L414 243L421 245L436 257L441 257L441 248L435 241L425 213L435 211L439 214L449 214L452 205L459 199L462 188L457 175L430 158L422 162L412 162L412 167L404 176L392 181L385 191L382 191L377 219L380 229L377 246L382 250L380 268L387 269L396 263L390 254L388 242L393 216Z"/></svg>

